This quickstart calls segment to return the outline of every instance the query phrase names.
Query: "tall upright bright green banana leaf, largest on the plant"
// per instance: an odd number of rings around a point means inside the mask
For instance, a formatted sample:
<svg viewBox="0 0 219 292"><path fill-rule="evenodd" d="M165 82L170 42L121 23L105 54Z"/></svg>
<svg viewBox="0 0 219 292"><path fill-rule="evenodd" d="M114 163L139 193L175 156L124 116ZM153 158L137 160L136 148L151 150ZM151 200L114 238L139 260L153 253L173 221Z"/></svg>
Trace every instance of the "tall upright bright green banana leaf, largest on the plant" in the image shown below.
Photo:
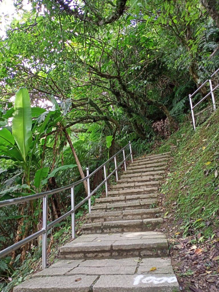
<svg viewBox="0 0 219 292"><path fill-rule="evenodd" d="M26 88L20 88L15 94L12 133L24 161L26 161L26 156L32 142L31 127L32 114L29 93Z"/></svg>

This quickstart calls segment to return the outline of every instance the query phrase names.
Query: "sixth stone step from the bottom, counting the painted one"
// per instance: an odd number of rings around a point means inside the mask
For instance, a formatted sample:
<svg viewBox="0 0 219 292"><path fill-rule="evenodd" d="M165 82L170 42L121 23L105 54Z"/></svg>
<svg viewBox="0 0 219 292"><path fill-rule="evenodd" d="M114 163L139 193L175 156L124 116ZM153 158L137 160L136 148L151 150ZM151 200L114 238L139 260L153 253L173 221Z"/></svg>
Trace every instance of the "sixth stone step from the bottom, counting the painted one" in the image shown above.
<svg viewBox="0 0 219 292"><path fill-rule="evenodd" d="M145 199L156 199L157 193L154 194L140 194L140 195L129 195L120 197L105 197L100 199L95 199L95 203L122 203L122 202L133 202L141 201Z"/></svg>

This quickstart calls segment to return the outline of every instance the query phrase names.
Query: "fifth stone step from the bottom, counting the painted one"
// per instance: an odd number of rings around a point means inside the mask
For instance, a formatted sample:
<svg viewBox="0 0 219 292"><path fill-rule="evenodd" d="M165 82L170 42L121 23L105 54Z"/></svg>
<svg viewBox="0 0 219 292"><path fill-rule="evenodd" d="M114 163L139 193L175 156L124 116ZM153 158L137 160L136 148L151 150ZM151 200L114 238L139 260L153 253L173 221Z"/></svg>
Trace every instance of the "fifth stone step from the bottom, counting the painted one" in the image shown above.
<svg viewBox="0 0 219 292"><path fill-rule="evenodd" d="M157 204L157 199L148 199L140 201L128 201L123 203L114 204L96 204L91 207L92 212L112 212L112 211L122 211L122 210L139 210L139 209L149 209L151 205ZM101 210L101 211L100 211Z"/></svg>

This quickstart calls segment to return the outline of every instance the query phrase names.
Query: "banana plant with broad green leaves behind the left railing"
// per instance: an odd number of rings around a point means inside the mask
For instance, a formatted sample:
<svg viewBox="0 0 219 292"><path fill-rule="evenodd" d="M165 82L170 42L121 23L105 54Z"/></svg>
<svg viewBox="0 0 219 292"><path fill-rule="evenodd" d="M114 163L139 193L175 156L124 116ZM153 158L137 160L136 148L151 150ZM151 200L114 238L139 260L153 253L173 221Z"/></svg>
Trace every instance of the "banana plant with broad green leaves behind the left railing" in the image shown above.
<svg viewBox="0 0 219 292"><path fill-rule="evenodd" d="M41 143L40 139L62 119L60 110L57 110L55 105L50 111L40 107L31 108L27 89L20 88L15 94L13 111L10 110L10 113L7 114L6 112L3 118L10 117L12 114L12 128L5 122L4 128L0 130L0 158L8 160L10 164L20 168L22 183L2 190L0 200L13 198L15 195L27 195L26 191L34 193L33 187L30 186L31 170L35 173L33 185L39 192L42 186L47 183L48 178L54 176L57 171L76 166L65 165L54 169L49 175L48 167L41 168L41 157L37 150ZM44 180L43 183L42 180ZM8 184L4 186L8 187ZM14 191L18 189L25 190L25 193L15 193Z"/></svg>

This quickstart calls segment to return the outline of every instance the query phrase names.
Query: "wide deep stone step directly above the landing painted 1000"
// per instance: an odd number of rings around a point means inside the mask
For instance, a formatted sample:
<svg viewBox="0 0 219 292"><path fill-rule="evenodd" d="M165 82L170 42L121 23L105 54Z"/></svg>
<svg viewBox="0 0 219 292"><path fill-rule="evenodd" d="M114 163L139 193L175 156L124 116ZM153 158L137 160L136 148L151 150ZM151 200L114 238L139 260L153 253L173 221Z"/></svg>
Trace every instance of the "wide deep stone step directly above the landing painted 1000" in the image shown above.
<svg viewBox="0 0 219 292"><path fill-rule="evenodd" d="M168 256L166 236L160 232L83 234L60 247L60 259Z"/></svg>

